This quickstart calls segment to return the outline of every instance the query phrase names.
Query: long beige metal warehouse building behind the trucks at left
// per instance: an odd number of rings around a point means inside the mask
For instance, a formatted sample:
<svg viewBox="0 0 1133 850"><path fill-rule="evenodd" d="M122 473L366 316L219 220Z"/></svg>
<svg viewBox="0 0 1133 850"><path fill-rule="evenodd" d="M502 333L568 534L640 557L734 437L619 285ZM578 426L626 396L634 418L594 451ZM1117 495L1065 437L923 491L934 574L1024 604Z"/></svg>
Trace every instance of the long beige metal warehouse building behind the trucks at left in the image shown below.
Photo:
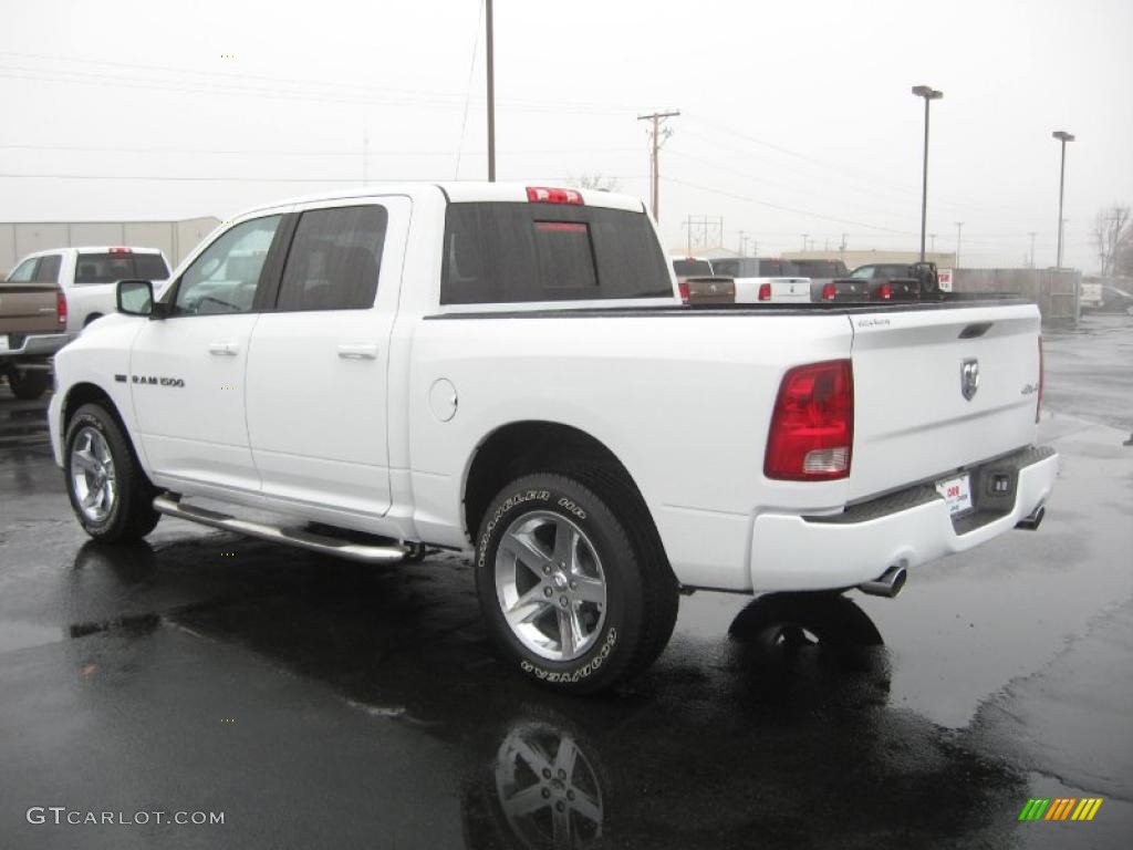
<svg viewBox="0 0 1133 850"><path fill-rule="evenodd" d="M84 245L160 248L174 267L218 224L220 219L211 215L182 221L0 222L0 279L32 252Z"/></svg>

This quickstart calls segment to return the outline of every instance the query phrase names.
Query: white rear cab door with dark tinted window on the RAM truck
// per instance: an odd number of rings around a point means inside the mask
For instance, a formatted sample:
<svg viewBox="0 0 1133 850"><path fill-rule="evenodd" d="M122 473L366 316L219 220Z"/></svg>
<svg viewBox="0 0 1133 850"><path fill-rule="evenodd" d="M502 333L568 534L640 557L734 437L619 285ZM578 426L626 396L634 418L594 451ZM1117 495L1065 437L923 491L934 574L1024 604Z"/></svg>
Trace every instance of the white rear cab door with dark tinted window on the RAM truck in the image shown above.
<svg viewBox="0 0 1133 850"><path fill-rule="evenodd" d="M410 201L351 198L298 212L274 306L248 355L253 457L265 496L382 516L389 343Z"/></svg>

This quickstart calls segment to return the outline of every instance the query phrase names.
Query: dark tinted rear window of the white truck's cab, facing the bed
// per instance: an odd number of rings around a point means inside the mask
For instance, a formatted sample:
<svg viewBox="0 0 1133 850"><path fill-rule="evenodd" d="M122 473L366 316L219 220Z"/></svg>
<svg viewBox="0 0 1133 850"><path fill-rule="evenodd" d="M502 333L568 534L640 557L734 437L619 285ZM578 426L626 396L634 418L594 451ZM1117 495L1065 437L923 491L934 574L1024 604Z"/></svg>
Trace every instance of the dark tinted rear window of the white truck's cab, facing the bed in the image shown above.
<svg viewBox="0 0 1133 850"><path fill-rule="evenodd" d="M538 202L449 204L442 305L672 295L667 261L644 212Z"/></svg>

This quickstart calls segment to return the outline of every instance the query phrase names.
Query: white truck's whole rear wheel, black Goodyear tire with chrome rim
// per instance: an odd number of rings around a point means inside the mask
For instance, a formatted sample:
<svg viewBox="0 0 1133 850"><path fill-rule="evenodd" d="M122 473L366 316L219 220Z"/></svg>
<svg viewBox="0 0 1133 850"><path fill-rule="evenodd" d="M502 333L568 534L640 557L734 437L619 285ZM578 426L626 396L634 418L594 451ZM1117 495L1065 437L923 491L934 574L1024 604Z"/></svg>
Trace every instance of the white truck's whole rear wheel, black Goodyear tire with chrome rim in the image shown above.
<svg viewBox="0 0 1133 850"><path fill-rule="evenodd" d="M582 477L582 476L580 476ZM480 609L501 653L534 680L587 694L629 678L664 648L678 587L615 487L564 475L496 494L476 546Z"/></svg>

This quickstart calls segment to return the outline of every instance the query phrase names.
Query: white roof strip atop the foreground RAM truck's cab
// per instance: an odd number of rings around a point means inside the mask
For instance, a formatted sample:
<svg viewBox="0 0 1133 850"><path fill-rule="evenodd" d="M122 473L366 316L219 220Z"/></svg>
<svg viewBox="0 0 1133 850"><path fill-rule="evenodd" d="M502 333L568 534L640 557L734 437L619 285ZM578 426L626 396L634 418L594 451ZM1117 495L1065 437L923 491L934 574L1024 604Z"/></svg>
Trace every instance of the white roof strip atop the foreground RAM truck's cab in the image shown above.
<svg viewBox="0 0 1133 850"><path fill-rule="evenodd" d="M529 182L487 182L486 180L452 180L452 181L404 181L404 182L374 182L366 186L357 186L351 189L333 189L300 197L282 198L271 204L261 204L250 210L245 210L237 218L244 218L254 212L264 210L275 210L291 204L309 204L317 201L344 201L355 197L370 197L374 195L409 195L418 197L427 193L440 189L450 203L466 204L476 202L516 202L527 203L527 189L539 188L562 188L577 192L582 197L582 203L587 206L602 206L612 210L627 210L630 212L645 212L645 203L641 198L632 195L622 195L602 189L579 189L573 186L555 185L554 181L531 180Z"/></svg>

